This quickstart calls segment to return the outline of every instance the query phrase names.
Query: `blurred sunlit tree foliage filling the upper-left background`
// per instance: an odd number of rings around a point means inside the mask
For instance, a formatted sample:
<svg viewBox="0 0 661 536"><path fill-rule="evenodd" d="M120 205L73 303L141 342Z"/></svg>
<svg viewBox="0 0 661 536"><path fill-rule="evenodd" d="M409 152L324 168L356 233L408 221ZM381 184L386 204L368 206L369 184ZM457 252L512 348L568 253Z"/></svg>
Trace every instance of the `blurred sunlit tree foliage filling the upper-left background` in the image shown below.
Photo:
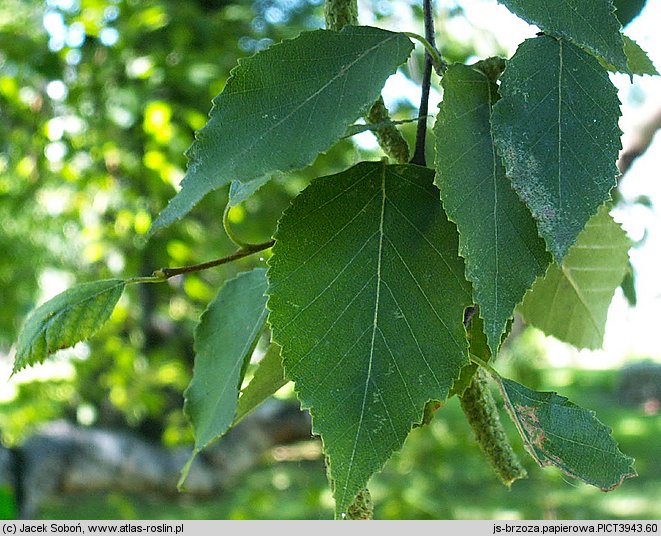
<svg viewBox="0 0 661 536"><path fill-rule="evenodd" d="M383 27L421 26L417 4L366 4ZM461 9L442 13L443 21ZM177 188L185 151L236 65L273 42L323 26L321 0L7 0L0 5L0 362L36 305L75 283L149 275L231 253L222 228L226 189L185 221L147 239ZM494 43L496 41L494 40ZM444 39L464 61L471 39ZM497 48L497 47L496 47ZM422 51L403 68L418 82ZM416 103L402 95L395 119ZM403 127L412 142L415 124ZM430 142L431 143L431 142ZM340 141L309 168L276 177L230 221L244 240L268 239L314 177L380 153ZM17 445L40 422L128 425L167 444L187 442L182 392L192 332L222 282L264 256L131 287L91 341L54 367L13 378L0 400L0 434ZM54 377L53 377L54 376ZM37 382L37 383L35 383Z"/></svg>

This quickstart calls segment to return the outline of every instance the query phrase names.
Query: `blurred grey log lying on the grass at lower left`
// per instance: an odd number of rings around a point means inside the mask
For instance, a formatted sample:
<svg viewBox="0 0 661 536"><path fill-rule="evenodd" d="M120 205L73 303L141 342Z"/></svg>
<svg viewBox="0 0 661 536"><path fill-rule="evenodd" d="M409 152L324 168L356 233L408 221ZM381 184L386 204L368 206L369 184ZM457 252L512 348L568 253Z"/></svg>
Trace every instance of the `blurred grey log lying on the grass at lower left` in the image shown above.
<svg viewBox="0 0 661 536"><path fill-rule="evenodd" d="M309 415L297 404L269 400L196 457L186 493L208 496L227 489L269 448L311 437ZM14 483L20 517L33 519L55 494L121 490L176 495L191 450L169 449L127 430L54 421L17 452L0 449L0 482Z"/></svg>

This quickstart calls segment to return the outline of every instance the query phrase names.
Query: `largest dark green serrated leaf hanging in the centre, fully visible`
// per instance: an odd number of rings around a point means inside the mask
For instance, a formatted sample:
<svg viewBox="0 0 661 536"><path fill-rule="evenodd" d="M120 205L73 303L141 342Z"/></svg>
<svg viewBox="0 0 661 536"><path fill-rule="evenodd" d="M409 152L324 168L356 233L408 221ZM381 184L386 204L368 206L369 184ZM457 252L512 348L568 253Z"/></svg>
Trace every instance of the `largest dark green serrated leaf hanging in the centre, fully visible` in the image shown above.
<svg viewBox="0 0 661 536"><path fill-rule="evenodd" d="M338 514L468 362L470 286L433 172L361 163L314 181L269 260L269 323L329 459Z"/></svg>

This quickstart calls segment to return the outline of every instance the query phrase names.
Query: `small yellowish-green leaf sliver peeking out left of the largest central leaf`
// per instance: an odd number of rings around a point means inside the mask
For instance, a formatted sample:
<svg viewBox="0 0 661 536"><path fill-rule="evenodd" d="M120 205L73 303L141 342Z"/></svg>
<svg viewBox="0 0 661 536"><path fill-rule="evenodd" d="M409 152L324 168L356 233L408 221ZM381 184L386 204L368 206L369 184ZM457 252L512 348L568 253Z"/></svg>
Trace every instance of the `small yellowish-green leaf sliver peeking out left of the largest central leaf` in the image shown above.
<svg viewBox="0 0 661 536"><path fill-rule="evenodd" d="M241 391L233 425L249 415L264 400L285 385L287 381L285 371L282 368L280 347L275 343L271 343L266 354L257 364L257 370L255 370L252 380Z"/></svg>

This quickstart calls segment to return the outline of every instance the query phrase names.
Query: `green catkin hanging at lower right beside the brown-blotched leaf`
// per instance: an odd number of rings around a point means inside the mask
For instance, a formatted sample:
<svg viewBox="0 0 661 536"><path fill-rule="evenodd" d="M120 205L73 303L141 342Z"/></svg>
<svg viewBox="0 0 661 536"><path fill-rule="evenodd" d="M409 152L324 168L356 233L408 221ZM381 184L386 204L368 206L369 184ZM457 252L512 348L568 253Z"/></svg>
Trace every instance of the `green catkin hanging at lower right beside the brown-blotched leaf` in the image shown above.
<svg viewBox="0 0 661 536"><path fill-rule="evenodd" d="M510 487L515 480L525 478L526 470L510 445L496 402L480 369L459 400L475 439L503 484Z"/></svg>

